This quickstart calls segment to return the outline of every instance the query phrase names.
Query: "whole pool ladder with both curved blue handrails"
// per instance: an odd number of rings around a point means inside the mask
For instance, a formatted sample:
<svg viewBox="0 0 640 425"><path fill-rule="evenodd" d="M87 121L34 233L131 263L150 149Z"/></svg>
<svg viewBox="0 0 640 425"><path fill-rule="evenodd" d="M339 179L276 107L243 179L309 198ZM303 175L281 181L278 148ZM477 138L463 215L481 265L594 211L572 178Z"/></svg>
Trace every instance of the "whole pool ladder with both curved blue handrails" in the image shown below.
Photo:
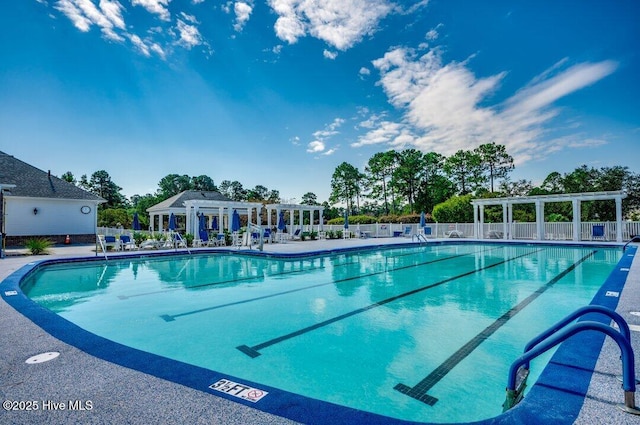
<svg viewBox="0 0 640 425"><path fill-rule="evenodd" d="M619 331L611 326L595 321L582 321L568 326L575 319L587 313L601 313L609 316L620 329ZM529 362L540 354L550 350L569 337L588 330L595 330L609 335L620 347L622 360L622 388L624 389L624 404L618 407L634 415L640 415L640 410L635 404L636 378L633 349L631 348L631 332L629 325L615 311L598 305L581 307L567 317L542 332L537 337L527 343L524 354L518 357L509 368L509 379L507 383L507 398L503 403L503 412L514 407L522 400L529 376Z"/></svg>

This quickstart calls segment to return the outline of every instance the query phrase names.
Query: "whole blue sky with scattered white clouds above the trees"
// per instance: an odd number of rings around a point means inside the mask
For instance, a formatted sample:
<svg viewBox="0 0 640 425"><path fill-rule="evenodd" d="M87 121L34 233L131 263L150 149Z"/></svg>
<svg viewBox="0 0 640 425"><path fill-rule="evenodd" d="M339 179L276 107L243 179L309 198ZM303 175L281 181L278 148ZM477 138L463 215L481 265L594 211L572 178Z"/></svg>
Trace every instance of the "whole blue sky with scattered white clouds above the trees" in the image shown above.
<svg viewBox="0 0 640 425"><path fill-rule="evenodd" d="M640 172L636 0L20 0L0 150L127 196L167 174L327 200L347 161L495 141L512 178Z"/></svg>

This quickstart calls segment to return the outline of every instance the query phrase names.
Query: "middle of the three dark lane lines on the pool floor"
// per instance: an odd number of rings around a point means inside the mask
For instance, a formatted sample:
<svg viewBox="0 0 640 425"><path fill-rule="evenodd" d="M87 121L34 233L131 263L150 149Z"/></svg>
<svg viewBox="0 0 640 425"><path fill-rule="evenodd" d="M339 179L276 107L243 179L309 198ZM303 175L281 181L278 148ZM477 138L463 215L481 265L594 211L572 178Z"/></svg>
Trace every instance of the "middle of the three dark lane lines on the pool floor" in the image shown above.
<svg viewBox="0 0 640 425"><path fill-rule="evenodd" d="M404 292L404 293L402 293L402 294L399 294L399 295L393 296L393 297L391 297L391 298L387 298L387 299L385 299L385 300L378 301L378 302L376 302L376 303L370 304L370 305L368 305L368 306L366 306L366 307L362 307L362 308L359 308L359 309L357 309L357 310L353 310L353 311L350 311L350 312L348 312L348 313L341 314L340 316L336 316L336 317L333 317L333 318L331 318L331 319L328 319L328 320L325 320L325 321L322 321L322 322L316 323L315 325L311 325L311 326L308 326L308 327L306 327L306 328L303 328L303 329L297 330L297 331L295 331L295 332L291 332L291 333L289 333L289 334L282 335L282 336L279 336L279 337L277 337L277 338L270 339L269 341L265 341L265 342L263 342L263 343L260 343L260 344L254 345L253 347L249 347L249 346L247 346L247 345L240 345L240 346L238 346L238 347L236 347L236 348L237 348L238 350L242 351L243 353L245 353L246 355L248 355L249 357L255 358L255 357L258 357L258 356L261 354L261 353L259 352L259 350L261 350L261 349L263 349L263 348L270 347L270 346L272 346L272 345L274 345L274 344L278 344L278 343L280 343L280 342L282 342L282 341L286 341L286 340L288 340L288 339L291 339L291 338L294 338L294 337L297 337L297 336L303 335L303 334L305 334L305 333L307 333L307 332L311 332L311 331L313 331L313 330L316 330L316 329L322 328L322 327L324 327L324 326L330 325L330 324L332 324L332 323L338 322L338 321L343 320L343 319L346 319L346 318L348 318L348 317L355 316L356 314L364 313L365 311L369 311L369 310L374 309L374 308L376 308L376 307L383 306L383 305L385 305L385 304L388 304L388 303L390 303L390 302L393 302L393 301L399 300L399 299L401 299L401 298L405 298L405 297L408 297L408 296L410 296L410 295L417 294L417 293L422 292L422 291L425 291L425 290L427 290L427 289L431 289L431 288L434 288L434 287L436 287L436 286L440 286L440 285L443 285L443 284L445 284L445 283L452 282L452 281L454 281L454 280L457 280L457 279L463 278L463 277L465 277L465 276L472 275L472 274L477 273L477 272L479 272L479 271L486 270L486 269L489 269L489 268L492 268L492 267L496 267L496 266L499 266L500 264L504 264L504 263L507 263L507 262L510 262L510 261L516 260L516 259L518 259L518 258L521 258L521 257L525 257L525 256L528 256L528 255L531 255L531 254L535 254L535 253L540 252L540 251L542 251L542 249L537 249L537 250L532 251L532 252L529 252L529 253L525 253L525 254L517 255L517 256L515 256L515 257L508 258L508 259L506 259L506 260L499 261L499 262L497 262L497 263L495 263L495 264L491 264L491 265L488 265L488 266L484 266L484 267L480 267L480 268L477 268L477 269L473 269L473 270L471 270L471 271L468 271L468 272L465 272L465 273L459 274L459 275L457 275L457 276L453 276L453 277L450 277L450 278L447 278L447 279L441 280L441 281L439 281L439 282L432 283L431 285L423 286L423 287L420 287L420 288L417 288L417 289L413 289L413 290L408 291L408 292ZM415 266L411 266L411 267L415 267ZM408 268L408 267L402 267L402 268L394 269L393 271L397 271L397 270L400 270L400 269L406 269L406 268Z"/></svg>

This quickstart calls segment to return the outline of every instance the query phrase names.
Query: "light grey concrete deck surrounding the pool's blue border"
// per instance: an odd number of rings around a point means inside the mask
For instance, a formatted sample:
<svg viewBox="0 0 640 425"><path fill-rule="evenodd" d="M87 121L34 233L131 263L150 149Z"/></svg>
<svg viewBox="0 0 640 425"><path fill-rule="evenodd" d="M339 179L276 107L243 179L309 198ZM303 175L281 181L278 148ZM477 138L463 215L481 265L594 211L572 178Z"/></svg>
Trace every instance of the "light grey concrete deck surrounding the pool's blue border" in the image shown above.
<svg viewBox="0 0 640 425"><path fill-rule="evenodd" d="M405 238L321 240L267 244L264 248L265 252L296 254L407 241ZM24 256L19 255L20 251L10 250L10 255L0 260L0 281L32 261L95 256L93 249L93 246L54 247L48 256ZM110 257L116 255L110 254ZM640 311L640 261L634 261L631 265L617 311L632 326L631 341L636 364L639 364L637 353L640 352L640 343L637 335L640 316L632 313ZM0 317L3 330L0 344L0 396L3 401L37 401L39 407L35 411L2 410L0 423L295 423L93 357L52 337L9 306L4 298L0 302ZM59 352L60 356L49 362L25 363L33 355L52 351ZM618 375L619 349L607 338L584 405L574 423L640 423L639 416L623 413L616 407L616 404L623 402ZM70 401L79 402L73 404L76 410L61 410L60 403L68 407ZM636 402L639 402L637 396ZM79 406L85 410L79 410Z"/></svg>

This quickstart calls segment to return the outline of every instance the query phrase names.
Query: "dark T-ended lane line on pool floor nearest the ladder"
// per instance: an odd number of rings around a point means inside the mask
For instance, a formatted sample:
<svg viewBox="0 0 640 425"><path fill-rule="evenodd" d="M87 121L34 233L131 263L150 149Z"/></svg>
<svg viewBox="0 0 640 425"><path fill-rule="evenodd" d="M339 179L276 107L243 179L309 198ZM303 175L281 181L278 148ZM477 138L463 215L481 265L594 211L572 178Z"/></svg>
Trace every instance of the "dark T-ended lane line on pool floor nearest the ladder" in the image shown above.
<svg viewBox="0 0 640 425"><path fill-rule="evenodd" d="M580 260L576 261L574 264L569 266L562 273L551 279L549 282L538 288L533 294L529 295L527 298L522 300L518 305L511 308L505 314L500 316L493 322L491 325L487 326L482 332L473 337L471 341L467 342L463 345L458 351L453 353L451 357L445 360L440 366L435 368L433 372L431 372L426 378L418 382L415 386L409 387L405 384L397 384L393 387L395 390L400 391L402 394L406 394L409 397L415 398L423 403L428 404L429 406L433 406L438 399L430 396L427 392L442 378L444 378L451 370L458 365L462 360L464 360L469 354L471 354L480 344L482 344L487 338L489 338L495 331L500 329L502 325L506 324L509 319L522 311L526 306L531 304L536 298L542 295L547 289L551 288L556 282L565 277L567 274L572 272L578 265L587 260L589 257L593 256L598 251L593 251Z"/></svg>

